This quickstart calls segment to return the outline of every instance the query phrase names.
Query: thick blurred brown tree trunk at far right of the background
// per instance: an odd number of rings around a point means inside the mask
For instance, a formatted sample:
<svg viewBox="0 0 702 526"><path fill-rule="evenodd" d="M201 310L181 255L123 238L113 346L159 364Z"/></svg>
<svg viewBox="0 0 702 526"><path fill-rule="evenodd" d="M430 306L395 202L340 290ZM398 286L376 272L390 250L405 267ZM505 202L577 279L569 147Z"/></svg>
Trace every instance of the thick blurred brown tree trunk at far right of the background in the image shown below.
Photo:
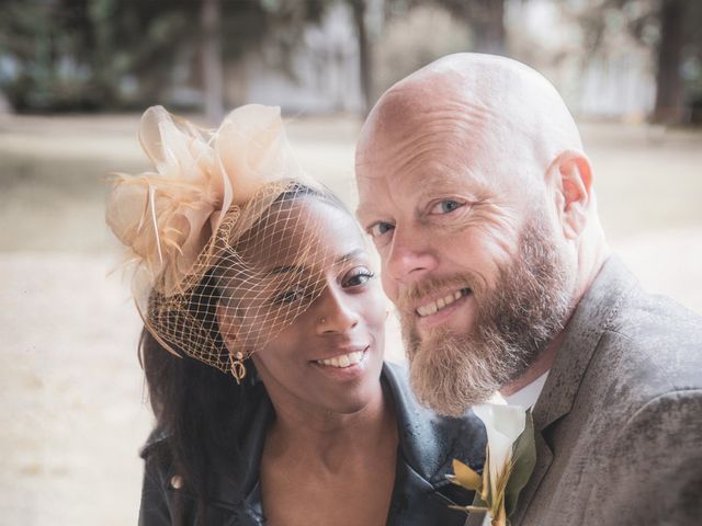
<svg viewBox="0 0 702 526"><path fill-rule="evenodd" d="M677 124L684 117L680 61L684 45L686 0L664 0L660 9L660 43L653 121Z"/></svg>

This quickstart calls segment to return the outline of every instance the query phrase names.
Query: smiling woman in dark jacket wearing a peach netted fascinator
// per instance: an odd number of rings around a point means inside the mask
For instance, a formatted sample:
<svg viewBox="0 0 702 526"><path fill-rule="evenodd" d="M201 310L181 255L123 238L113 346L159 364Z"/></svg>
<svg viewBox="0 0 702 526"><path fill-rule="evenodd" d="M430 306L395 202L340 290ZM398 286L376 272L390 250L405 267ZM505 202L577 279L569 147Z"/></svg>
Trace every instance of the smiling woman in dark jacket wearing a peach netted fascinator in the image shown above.
<svg viewBox="0 0 702 526"><path fill-rule="evenodd" d="M141 140L158 173L117 180L107 211L139 263L157 418L139 523L463 524L444 476L483 466L483 426L418 407L383 363L363 237L278 110L211 135L152 108Z"/></svg>

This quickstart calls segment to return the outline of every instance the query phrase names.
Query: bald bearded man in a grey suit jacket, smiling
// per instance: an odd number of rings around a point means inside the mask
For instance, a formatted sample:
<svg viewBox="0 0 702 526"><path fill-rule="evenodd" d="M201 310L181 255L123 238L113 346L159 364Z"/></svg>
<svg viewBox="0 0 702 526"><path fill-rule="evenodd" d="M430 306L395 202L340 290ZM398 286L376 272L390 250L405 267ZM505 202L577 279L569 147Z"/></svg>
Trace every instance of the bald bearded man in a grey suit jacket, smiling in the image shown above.
<svg viewBox="0 0 702 526"><path fill-rule="evenodd" d="M702 524L702 320L610 255L555 89L513 60L444 57L381 98L356 176L418 398L535 402L512 524Z"/></svg>

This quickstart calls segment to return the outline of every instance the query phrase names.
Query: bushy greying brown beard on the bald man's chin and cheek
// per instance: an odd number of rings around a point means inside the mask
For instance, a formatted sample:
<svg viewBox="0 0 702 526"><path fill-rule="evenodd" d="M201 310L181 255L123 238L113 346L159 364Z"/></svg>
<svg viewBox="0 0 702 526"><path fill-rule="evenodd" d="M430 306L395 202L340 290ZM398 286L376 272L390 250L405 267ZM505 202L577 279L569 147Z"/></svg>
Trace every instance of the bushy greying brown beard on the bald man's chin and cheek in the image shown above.
<svg viewBox="0 0 702 526"><path fill-rule="evenodd" d="M401 319L418 400L441 414L460 416L522 376L569 316L573 284L567 271L553 232L536 215L495 287L476 295L471 333L440 329L422 341L414 319ZM467 282L476 283L474 277Z"/></svg>

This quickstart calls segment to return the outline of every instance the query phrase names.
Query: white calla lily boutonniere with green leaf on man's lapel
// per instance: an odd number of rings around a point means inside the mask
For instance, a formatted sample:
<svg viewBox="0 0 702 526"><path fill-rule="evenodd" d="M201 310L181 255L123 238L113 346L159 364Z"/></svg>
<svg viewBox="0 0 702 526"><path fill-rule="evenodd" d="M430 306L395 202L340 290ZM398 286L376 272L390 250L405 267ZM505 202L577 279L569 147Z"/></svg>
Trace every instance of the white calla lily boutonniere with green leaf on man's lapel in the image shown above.
<svg viewBox="0 0 702 526"><path fill-rule="evenodd" d="M487 430L483 476L454 459L454 474L446 477L454 484L475 491L475 499L468 506L451 507L466 513L486 512L492 526L508 526L519 493L536 464L531 410L507 405L502 400L476 405L473 411Z"/></svg>

